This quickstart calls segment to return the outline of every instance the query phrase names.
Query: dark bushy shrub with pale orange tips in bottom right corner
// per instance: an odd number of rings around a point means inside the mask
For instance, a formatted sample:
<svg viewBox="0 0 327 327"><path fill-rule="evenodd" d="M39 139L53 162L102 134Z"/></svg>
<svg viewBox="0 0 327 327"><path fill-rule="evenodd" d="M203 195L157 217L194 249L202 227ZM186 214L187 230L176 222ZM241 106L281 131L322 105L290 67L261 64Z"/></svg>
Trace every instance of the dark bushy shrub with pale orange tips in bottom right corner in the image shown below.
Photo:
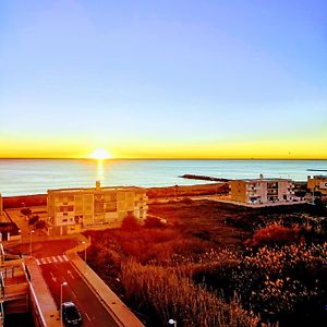
<svg viewBox="0 0 327 327"><path fill-rule="evenodd" d="M298 326L306 319L301 326L308 322L316 326L313 322L323 315L322 303L326 303L326 257L327 243L264 246L243 257L230 271L229 282L242 304L264 319L279 320L282 326Z"/></svg>

